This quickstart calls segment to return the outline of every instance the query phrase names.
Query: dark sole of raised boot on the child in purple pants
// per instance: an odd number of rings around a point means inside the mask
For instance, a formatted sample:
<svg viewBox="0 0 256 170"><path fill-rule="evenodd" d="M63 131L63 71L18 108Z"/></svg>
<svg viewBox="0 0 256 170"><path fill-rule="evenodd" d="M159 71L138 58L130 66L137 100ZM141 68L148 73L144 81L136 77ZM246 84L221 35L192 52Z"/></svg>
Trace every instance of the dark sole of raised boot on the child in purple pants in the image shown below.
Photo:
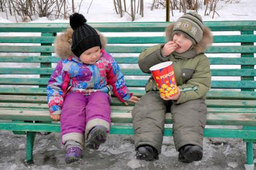
<svg viewBox="0 0 256 170"><path fill-rule="evenodd" d="M86 148L98 150L99 145L104 144L107 139L107 133L105 129L97 129L90 135L87 141Z"/></svg>

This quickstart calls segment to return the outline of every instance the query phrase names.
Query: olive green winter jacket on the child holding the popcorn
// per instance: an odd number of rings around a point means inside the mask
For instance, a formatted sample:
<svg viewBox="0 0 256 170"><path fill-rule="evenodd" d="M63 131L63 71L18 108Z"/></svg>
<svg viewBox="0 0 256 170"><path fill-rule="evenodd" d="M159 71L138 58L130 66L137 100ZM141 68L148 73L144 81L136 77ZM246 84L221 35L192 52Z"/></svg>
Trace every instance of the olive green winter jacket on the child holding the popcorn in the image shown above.
<svg viewBox="0 0 256 170"><path fill-rule="evenodd" d="M181 90L181 96L177 103L184 103L188 100L205 98L205 94L211 88L211 71L207 56L201 53L194 58L183 58L181 56L169 55L164 58L161 55L159 44L150 49L144 50L139 56L140 69L145 73L150 73L149 68L164 61L173 62L176 83ZM150 79L146 85L146 91L158 90L154 79Z"/></svg>

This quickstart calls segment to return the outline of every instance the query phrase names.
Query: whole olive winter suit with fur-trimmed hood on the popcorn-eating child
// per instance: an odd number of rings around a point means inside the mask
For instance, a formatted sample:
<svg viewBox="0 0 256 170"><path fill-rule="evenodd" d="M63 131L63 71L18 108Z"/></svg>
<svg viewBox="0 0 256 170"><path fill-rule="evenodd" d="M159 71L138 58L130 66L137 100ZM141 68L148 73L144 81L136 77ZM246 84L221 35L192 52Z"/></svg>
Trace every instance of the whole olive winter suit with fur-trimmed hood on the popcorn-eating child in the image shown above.
<svg viewBox="0 0 256 170"><path fill-rule="evenodd" d="M167 27L167 40L172 40L173 24ZM180 98L163 100L152 77L146 84L145 96L139 100L132 111L135 131L135 147L151 145L161 152L164 121L167 111L172 113L173 140L176 150L183 145L193 144L202 147L207 107L205 95L211 87L210 64L204 51L211 44L210 29L204 28L202 40L190 47L189 55L178 53L161 55L164 44L143 50L139 56L139 67L145 73L149 68L165 61L173 62L176 83L181 90ZM192 54L192 55L191 55Z"/></svg>

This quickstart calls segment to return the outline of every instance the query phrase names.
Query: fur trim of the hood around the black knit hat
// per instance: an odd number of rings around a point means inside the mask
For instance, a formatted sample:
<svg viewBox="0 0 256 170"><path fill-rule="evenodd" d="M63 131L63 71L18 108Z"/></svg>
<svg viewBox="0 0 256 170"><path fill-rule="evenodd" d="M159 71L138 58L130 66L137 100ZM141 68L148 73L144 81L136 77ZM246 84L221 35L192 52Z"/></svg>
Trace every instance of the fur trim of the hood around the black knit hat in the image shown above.
<svg viewBox="0 0 256 170"><path fill-rule="evenodd" d="M105 49L107 44L107 39L103 34L101 34L98 30L96 30L99 34L99 38L101 39L102 48ZM72 34L73 29L69 28L64 31L62 34L58 35L54 41L55 44L55 53L57 53L58 57L61 59L67 59L70 55L73 55L71 50L72 45Z"/></svg>

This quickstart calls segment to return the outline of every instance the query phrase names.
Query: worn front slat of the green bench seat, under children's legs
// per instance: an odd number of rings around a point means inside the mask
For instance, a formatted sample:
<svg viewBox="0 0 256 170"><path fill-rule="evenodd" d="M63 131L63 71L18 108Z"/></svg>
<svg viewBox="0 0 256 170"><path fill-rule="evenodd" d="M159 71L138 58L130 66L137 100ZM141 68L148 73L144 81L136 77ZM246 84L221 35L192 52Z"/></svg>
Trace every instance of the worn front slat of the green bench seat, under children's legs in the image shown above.
<svg viewBox="0 0 256 170"><path fill-rule="evenodd" d="M41 120L51 121L48 111L19 111L19 110L1 110L1 120ZM131 112L111 112L111 121L114 123L132 123ZM166 123L172 123L170 113L166 114ZM255 125L255 113L218 113L207 114L207 125L229 125L243 126Z"/></svg>

